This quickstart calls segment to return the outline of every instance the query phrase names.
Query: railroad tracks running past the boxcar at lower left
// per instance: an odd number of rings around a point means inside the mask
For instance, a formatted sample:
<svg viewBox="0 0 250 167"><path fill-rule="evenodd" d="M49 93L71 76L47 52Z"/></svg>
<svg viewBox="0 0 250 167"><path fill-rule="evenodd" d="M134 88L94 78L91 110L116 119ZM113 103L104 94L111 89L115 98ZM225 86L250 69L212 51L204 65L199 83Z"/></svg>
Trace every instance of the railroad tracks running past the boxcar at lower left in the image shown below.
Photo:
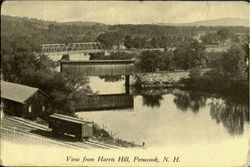
<svg viewBox="0 0 250 167"><path fill-rule="evenodd" d="M5 133L14 133L18 136L29 136L32 139L41 140L43 142L52 143L58 146L64 146L73 149L119 149L117 146L112 146L104 144L102 142L85 140L85 141L65 141L61 140L59 137L55 138L54 134L51 133L51 129L41 127L40 125L35 125L34 123L29 123L28 121L22 121L16 119L15 117L6 116L1 122L1 130ZM46 135L35 134L33 131L40 130Z"/></svg>

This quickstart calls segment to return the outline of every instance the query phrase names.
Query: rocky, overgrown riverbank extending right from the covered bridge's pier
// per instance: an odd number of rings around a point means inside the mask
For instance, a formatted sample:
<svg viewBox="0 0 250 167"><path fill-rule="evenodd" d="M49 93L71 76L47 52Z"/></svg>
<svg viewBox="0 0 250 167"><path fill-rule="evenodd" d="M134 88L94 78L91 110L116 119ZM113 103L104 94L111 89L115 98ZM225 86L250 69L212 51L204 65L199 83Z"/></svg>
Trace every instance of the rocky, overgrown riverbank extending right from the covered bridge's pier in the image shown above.
<svg viewBox="0 0 250 167"><path fill-rule="evenodd" d="M137 73L134 75L132 85L136 92L178 88L240 99L248 99L249 95L249 81L247 79L229 80L217 77L211 69Z"/></svg>

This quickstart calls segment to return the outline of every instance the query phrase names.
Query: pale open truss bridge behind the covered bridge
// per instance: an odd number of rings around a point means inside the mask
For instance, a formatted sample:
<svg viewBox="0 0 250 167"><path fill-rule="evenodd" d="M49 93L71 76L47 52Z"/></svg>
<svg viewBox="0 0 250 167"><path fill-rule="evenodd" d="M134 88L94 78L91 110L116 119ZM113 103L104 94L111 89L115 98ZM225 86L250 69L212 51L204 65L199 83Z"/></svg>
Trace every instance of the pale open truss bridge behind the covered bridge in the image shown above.
<svg viewBox="0 0 250 167"><path fill-rule="evenodd" d="M42 44L42 53L47 55L70 53L104 52L100 42L82 42L65 44Z"/></svg>

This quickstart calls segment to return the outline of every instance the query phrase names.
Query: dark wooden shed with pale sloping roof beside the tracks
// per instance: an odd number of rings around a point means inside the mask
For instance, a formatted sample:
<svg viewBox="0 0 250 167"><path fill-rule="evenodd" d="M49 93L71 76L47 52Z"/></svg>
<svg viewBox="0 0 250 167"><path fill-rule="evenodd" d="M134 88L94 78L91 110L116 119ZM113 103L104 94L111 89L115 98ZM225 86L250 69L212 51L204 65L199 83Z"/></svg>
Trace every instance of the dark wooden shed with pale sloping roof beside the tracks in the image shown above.
<svg viewBox="0 0 250 167"><path fill-rule="evenodd" d="M48 97L38 88L1 81L1 104L5 113L34 119L47 110Z"/></svg>

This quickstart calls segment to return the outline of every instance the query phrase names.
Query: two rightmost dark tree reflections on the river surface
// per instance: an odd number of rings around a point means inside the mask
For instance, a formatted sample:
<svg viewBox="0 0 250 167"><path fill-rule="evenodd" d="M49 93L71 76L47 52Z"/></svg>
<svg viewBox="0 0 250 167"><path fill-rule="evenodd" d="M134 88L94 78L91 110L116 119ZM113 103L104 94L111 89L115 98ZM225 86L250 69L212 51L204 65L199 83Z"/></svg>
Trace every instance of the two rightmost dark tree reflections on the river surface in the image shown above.
<svg viewBox="0 0 250 167"><path fill-rule="evenodd" d="M174 103L181 111L200 111L206 105L210 106L211 118L217 124L222 123L231 135L241 135L244 132L244 122L249 121L247 102L235 102L232 99L208 98L197 92L174 91ZM207 104L207 99L211 101Z"/></svg>

